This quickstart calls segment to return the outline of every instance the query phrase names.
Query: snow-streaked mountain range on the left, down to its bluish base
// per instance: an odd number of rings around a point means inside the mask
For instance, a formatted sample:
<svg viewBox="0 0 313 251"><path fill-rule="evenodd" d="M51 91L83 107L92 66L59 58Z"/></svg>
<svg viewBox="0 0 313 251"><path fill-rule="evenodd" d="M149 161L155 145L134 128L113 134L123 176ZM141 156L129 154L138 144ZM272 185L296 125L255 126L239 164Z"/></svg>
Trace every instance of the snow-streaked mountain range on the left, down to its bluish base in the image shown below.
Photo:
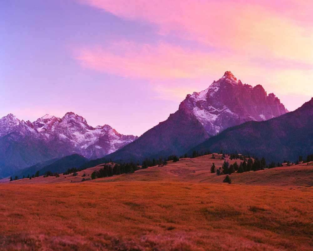
<svg viewBox="0 0 313 251"><path fill-rule="evenodd" d="M8 114L0 119L0 177L74 153L100 158L135 139L109 125L94 128L73 112L62 118L47 114L33 123Z"/></svg>

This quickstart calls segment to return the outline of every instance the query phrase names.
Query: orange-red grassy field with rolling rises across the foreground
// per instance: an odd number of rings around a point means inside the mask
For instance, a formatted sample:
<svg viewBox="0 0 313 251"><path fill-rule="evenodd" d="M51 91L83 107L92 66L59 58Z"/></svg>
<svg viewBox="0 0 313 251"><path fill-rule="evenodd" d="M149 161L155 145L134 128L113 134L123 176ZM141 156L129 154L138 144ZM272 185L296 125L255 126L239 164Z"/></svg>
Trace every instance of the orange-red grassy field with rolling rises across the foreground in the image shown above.
<svg viewBox="0 0 313 251"><path fill-rule="evenodd" d="M312 165L223 184L212 162L0 184L0 250L313 250Z"/></svg>

